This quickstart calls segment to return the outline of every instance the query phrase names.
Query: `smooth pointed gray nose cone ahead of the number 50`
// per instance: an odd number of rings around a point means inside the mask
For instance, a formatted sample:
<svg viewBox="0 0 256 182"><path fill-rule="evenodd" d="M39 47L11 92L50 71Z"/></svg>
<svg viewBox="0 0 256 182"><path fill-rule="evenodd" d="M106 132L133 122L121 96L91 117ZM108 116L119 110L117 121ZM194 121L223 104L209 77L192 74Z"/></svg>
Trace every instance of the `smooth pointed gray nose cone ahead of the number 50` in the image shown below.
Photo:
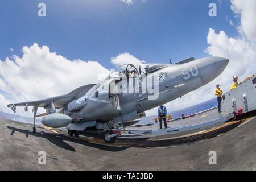
<svg viewBox="0 0 256 182"><path fill-rule="evenodd" d="M201 78L204 84L217 78L226 68L229 60L224 57L208 57L207 64L202 69Z"/></svg>

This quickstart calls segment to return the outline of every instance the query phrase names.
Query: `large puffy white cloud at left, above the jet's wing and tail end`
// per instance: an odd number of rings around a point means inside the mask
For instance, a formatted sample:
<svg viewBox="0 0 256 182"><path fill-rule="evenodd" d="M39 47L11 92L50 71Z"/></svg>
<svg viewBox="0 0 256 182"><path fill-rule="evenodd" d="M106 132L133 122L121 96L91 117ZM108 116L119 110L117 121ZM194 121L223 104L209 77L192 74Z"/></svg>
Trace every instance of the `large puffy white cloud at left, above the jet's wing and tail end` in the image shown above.
<svg viewBox="0 0 256 182"><path fill-rule="evenodd" d="M67 94L82 85L97 83L109 73L97 61L71 61L36 43L24 46L22 52L22 57L13 55L0 61L0 90L11 93L15 102ZM1 97L1 106L6 107L6 103Z"/></svg>

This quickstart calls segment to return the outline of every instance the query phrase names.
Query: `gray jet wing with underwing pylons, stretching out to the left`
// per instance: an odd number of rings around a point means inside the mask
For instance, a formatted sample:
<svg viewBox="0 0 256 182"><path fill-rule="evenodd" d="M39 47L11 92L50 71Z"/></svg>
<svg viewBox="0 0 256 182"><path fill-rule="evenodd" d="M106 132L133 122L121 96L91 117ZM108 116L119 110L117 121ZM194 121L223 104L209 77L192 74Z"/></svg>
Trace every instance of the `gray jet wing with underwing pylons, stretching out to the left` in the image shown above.
<svg viewBox="0 0 256 182"><path fill-rule="evenodd" d="M30 101L30 102L20 102L20 103L14 103L14 104L8 104L7 107L10 106L38 106L38 107L45 107L53 101L54 106L56 109L59 109L60 107L63 107L67 105L70 101L73 100L75 96L73 95L64 95L64 96L57 96L57 97L51 97L44 100L38 100L38 101Z"/></svg>

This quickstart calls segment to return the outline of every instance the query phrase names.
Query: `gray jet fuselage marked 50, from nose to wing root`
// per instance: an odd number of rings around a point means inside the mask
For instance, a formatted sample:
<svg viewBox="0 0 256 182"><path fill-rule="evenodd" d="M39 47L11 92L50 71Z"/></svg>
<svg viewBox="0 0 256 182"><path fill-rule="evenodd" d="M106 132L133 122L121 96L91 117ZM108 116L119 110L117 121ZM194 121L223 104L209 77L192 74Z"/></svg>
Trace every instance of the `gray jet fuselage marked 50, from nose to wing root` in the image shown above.
<svg viewBox="0 0 256 182"><path fill-rule="evenodd" d="M70 115L73 122L108 122L111 119L118 122L139 118L138 114L144 116L146 110L208 84L224 71L228 62L223 57L205 57L183 64L167 64L135 79L119 81L120 78L109 77L77 99L77 107L79 102L84 105L81 110L70 112L66 109L64 114ZM110 94L113 82L118 82L114 86L119 89L117 94Z"/></svg>

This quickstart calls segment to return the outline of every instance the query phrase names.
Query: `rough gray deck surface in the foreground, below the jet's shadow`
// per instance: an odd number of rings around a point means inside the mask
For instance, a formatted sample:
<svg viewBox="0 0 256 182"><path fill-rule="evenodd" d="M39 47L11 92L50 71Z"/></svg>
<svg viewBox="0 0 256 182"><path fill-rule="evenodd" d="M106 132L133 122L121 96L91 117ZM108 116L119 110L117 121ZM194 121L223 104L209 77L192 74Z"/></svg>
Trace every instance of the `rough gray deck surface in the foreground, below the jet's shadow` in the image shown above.
<svg viewBox="0 0 256 182"><path fill-rule="evenodd" d="M40 127L32 133L30 124L0 118L0 170L255 170L256 118L247 121L201 142L137 148L86 142ZM46 165L38 164L39 151L46 152ZM209 164L209 151L216 151L216 165Z"/></svg>

